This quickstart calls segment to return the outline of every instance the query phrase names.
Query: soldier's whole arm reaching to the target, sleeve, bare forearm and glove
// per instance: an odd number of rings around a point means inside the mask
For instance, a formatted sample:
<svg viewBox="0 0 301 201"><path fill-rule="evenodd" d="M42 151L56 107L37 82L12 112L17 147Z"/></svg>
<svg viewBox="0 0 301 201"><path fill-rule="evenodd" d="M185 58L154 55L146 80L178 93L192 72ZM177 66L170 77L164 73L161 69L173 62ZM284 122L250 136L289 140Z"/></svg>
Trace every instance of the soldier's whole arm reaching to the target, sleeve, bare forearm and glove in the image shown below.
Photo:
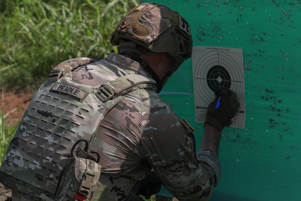
<svg viewBox="0 0 301 201"><path fill-rule="evenodd" d="M219 96L222 97L222 104L219 110L215 110L215 101ZM217 157L221 131L236 114L239 103L235 93L227 89L220 89L216 97L209 105L204 135L197 153L192 130L178 119L169 104L160 98L156 104L150 104L150 108L154 108L151 111L155 112L151 112L149 124L158 119L161 124L148 125L148 130L143 129L145 136L141 136L147 139L147 143L141 140L142 152L147 155L146 159L165 187L179 200L208 200L221 178Z"/></svg>

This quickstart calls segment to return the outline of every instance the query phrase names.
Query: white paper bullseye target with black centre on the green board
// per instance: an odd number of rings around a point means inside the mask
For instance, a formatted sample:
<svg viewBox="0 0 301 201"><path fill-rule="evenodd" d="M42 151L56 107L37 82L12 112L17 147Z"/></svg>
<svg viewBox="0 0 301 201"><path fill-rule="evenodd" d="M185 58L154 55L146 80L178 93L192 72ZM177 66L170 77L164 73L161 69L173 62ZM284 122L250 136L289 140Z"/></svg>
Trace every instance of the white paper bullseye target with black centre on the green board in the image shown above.
<svg viewBox="0 0 301 201"><path fill-rule="evenodd" d="M242 49L194 46L192 66L194 78L195 122L204 123L214 91L227 88L236 93L240 103L231 127L244 128L244 62ZM223 102L221 101L221 104Z"/></svg>

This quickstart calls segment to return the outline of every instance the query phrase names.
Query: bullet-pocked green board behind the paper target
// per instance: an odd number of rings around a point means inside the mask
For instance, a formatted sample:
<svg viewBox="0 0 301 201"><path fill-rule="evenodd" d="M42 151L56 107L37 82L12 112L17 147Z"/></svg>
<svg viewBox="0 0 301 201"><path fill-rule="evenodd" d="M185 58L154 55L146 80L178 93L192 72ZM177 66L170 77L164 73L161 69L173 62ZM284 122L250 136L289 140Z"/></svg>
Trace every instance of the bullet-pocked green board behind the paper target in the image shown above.
<svg viewBox="0 0 301 201"><path fill-rule="evenodd" d="M210 200L301 200L301 0L154 2L188 21L194 46L243 50L245 128L222 132L222 179ZM189 59L160 94L195 128L199 144L193 84Z"/></svg>

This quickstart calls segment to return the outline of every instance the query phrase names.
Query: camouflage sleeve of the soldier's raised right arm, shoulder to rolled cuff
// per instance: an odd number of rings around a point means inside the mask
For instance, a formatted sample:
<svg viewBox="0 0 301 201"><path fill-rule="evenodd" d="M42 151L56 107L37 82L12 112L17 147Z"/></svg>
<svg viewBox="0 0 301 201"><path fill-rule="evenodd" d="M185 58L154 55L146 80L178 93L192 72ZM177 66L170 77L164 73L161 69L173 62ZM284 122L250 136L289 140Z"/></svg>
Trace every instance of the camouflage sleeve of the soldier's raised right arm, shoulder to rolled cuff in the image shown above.
<svg viewBox="0 0 301 201"><path fill-rule="evenodd" d="M140 154L179 200L208 200L221 175L217 156L195 155L193 131L158 95L142 100Z"/></svg>

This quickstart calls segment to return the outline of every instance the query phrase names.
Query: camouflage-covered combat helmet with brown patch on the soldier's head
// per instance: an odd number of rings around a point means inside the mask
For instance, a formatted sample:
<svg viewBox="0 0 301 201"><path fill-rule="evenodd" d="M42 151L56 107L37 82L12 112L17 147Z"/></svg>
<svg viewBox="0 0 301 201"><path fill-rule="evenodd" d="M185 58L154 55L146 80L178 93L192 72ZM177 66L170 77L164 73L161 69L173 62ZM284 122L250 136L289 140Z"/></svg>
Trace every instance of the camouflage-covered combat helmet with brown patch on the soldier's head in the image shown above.
<svg viewBox="0 0 301 201"><path fill-rule="evenodd" d="M117 25L111 44L133 41L152 52L165 52L180 66L191 57L192 37L187 21L164 5L144 3L133 8Z"/></svg>

